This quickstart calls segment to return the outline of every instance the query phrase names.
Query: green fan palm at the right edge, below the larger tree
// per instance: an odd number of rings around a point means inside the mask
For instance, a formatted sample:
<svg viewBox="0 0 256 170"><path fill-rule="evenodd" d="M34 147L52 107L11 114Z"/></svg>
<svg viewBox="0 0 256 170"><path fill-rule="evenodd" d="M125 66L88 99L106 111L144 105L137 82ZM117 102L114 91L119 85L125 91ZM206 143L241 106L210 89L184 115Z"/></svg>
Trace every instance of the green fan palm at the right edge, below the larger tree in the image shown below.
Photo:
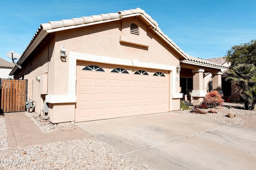
<svg viewBox="0 0 256 170"><path fill-rule="evenodd" d="M242 96L250 87L256 85L256 66L246 63L238 64L227 71L227 76L226 80L236 84L240 90L239 94ZM249 104L249 100L244 101L246 109L249 109Z"/></svg>

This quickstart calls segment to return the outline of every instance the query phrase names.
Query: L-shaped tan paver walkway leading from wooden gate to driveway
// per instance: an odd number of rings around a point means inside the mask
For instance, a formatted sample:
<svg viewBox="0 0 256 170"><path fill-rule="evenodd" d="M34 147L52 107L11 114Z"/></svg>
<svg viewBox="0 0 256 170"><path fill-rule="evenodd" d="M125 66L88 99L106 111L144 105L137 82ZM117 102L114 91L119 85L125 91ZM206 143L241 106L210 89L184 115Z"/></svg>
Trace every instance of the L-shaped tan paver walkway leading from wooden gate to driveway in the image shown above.
<svg viewBox="0 0 256 170"><path fill-rule="evenodd" d="M31 145L93 137L81 128L43 133L24 112L4 115L9 148L24 148Z"/></svg>

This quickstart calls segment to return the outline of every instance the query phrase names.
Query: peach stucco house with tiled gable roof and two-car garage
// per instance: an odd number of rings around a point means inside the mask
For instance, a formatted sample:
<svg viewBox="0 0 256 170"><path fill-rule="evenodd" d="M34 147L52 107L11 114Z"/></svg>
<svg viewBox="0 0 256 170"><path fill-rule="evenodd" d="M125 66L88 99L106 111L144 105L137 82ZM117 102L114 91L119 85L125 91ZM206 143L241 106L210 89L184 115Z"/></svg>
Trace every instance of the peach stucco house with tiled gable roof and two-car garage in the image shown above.
<svg viewBox="0 0 256 170"><path fill-rule="evenodd" d="M52 123L178 110L180 86L199 104L203 73L221 86L225 68L188 56L140 8L43 23L19 63L11 74L28 79L35 111Z"/></svg>

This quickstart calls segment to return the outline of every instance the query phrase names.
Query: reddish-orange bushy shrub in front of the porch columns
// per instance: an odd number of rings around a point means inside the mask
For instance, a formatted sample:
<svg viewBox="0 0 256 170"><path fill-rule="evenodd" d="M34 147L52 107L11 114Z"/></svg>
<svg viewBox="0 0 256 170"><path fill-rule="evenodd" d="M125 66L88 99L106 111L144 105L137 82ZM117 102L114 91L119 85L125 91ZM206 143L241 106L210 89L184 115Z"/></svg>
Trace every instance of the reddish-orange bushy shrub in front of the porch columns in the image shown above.
<svg viewBox="0 0 256 170"><path fill-rule="evenodd" d="M202 101L202 104L210 107L215 108L216 106L222 106L224 100L222 99L221 94L219 94L218 91L214 90L212 92L209 92L208 95L204 97L204 100Z"/></svg>

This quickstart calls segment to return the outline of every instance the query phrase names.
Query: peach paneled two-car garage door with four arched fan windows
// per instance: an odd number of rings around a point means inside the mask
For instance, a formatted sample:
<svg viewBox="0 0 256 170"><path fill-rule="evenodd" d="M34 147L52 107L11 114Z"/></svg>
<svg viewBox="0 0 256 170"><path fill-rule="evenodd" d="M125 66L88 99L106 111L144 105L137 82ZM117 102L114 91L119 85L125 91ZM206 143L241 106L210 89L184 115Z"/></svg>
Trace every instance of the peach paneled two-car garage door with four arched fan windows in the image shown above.
<svg viewBox="0 0 256 170"><path fill-rule="evenodd" d="M75 121L169 111L169 72L77 62Z"/></svg>

